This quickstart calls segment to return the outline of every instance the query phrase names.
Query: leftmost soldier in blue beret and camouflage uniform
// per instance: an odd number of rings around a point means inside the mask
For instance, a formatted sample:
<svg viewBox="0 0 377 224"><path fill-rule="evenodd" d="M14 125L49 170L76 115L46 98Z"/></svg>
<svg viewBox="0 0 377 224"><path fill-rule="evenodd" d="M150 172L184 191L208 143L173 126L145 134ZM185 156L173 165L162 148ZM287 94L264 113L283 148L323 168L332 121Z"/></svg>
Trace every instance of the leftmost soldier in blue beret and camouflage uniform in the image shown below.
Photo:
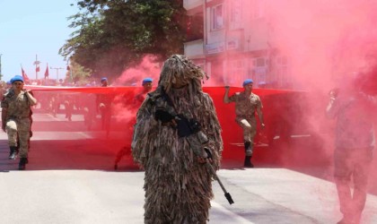
<svg viewBox="0 0 377 224"><path fill-rule="evenodd" d="M8 134L10 147L9 159L16 158L17 134L20 142L19 169L25 169L28 162L29 140L31 137L31 106L37 104L29 90L23 89L23 78L16 75L12 79L12 88L4 94L1 102L2 129Z"/></svg>

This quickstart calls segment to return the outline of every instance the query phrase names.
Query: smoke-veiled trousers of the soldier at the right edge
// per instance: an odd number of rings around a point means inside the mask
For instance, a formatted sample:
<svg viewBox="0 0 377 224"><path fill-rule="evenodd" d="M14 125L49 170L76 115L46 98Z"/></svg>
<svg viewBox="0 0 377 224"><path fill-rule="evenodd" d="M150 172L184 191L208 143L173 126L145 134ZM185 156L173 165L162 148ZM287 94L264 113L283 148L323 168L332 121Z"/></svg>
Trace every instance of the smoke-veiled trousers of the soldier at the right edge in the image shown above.
<svg viewBox="0 0 377 224"><path fill-rule="evenodd" d="M373 151L370 148L336 149L334 152L334 177L340 211L346 218L359 220L364 210L372 159ZM353 194L351 179L354 182Z"/></svg>

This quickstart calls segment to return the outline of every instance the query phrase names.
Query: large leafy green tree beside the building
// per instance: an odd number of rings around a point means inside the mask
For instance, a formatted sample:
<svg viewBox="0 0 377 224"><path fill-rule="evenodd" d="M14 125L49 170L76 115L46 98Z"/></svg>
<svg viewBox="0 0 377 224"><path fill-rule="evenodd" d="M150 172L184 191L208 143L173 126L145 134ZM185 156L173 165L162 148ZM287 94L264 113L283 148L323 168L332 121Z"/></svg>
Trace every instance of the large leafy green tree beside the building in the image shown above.
<svg viewBox="0 0 377 224"><path fill-rule="evenodd" d="M183 53L187 15L181 0L81 0L75 28L59 54L97 76L116 77L145 54Z"/></svg>

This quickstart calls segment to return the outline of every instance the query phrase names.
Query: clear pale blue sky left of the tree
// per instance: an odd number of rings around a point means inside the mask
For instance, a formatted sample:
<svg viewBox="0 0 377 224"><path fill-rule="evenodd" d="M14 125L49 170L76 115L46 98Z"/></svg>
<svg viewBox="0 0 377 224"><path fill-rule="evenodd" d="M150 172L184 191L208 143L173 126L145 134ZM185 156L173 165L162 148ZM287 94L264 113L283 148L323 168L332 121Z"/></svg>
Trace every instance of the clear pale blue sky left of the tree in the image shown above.
<svg viewBox="0 0 377 224"><path fill-rule="evenodd" d="M48 67L49 78L66 75L66 61L58 50L74 31L67 17L78 13L75 0L0 0L0 54L2 80L21 74L21 65L30 79L36 78L36 55L40 64L38 78ZM74 4L71 6L70 4Z"/></svg>

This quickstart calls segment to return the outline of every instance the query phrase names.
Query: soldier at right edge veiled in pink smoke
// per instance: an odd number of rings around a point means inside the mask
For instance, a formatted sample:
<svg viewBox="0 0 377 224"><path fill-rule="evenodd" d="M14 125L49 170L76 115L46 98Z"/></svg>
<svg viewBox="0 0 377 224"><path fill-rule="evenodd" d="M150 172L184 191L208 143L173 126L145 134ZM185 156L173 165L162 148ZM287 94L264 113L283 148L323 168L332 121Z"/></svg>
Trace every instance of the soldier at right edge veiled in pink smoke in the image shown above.
<svg viewBox="0 0 377 224"><path fill-rule="evenodd" d="M343 219L338 224L359 223L364 210L369 170L373 159L377 98L364 94L354 83L342 82L343 89L329 92L326 110L337 118L334 151L334 177ZM348 86L347 86L348 85ZM352 194L350 182L353 180Z"/></svg>

